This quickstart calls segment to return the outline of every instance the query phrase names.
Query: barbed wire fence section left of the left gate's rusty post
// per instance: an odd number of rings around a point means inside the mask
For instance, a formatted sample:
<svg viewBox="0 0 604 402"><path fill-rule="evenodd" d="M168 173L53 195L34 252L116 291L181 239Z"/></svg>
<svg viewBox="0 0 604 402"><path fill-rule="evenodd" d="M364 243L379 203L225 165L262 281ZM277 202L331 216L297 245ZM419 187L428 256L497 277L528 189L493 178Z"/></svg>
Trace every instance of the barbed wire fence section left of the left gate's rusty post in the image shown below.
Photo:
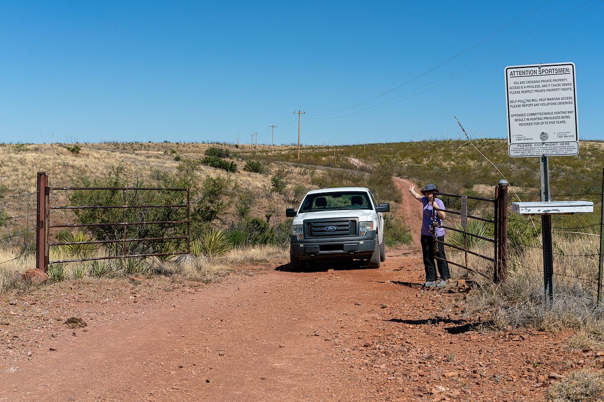
<svg viewBox="0 0 604 402"><path fill-rule="evenodd" d="M36 202L36 192L0 194L0 247L17 254L0 266L36 253Z"/></svg>

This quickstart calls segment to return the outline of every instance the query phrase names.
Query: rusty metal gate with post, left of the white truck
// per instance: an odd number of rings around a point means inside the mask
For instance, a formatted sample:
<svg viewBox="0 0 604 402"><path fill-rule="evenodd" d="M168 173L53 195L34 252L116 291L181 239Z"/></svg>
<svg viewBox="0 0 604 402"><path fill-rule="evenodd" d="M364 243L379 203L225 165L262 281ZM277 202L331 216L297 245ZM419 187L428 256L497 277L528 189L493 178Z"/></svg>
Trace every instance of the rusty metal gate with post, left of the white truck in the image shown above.
<svg viewBox="0 0 604 402"><path fill-rule="evenodd" d="M121 205L111 206L100 206L100 205L88 205L88 206L69 206L69 205L51 205L51 193L53 192L68 192L68 191L93 191L93 190L108 190L112 192L122 192ZM182 204L169 204L169 205L139 205L129 204L126 196L127 191L161 191L161 192L185 192L186 203ZM127 210L129 209L156 209L156 208L171 208L171 209L186 209L187 219L181 220L165 220L165 221L127 221ZM121 222L95 222L89 224L54 224L51 221L51 210L107 210L107 209L121 209ZM132 257L150 257L150 256L175 256L179 254L190 254L190 190L181 188L156 188L156 187L49 187L48 186L48 175L44 172L37 174L37 225L36 225L36 268L41 271L46 271L48 265L53 263L66 263L66 262L83 262L93 260L107 260L107 259L126 259ZM167 236L167 237L140 237L140 238L128 238L127 228L136 225L186 225L184 228L184 234L182 236ZM50 243L50 230L53 228L80 228L80 227L122 227L122 236L120 239L109 239L109 240L90 240L81 242L54 242ZM169 253L140 253L140 254L128 254L129 243L143 242L143 241L165 241L165 240L186 240L187 250L185 251L173 251ZM66 246L66 245L85 245L85 244L117 244L121 246L122 253L120 255L109 255L104 257L91 257L91 258L77 258L77 259L64 259L64 260L50 260L50 247L51 246Z"/></svg>

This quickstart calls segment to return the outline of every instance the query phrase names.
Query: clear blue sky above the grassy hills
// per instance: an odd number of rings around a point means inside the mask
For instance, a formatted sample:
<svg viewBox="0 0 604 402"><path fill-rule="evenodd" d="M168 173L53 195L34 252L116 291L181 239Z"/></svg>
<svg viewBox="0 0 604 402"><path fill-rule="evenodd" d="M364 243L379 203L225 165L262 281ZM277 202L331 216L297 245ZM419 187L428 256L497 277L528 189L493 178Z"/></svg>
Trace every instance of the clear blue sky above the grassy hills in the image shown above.
<svg viewBox="0 0 604 402"><path fill-rule="evenodd" d="M603 0L0 0L0 142L505 138L504 68L576 64L604 139Z"/></svg>

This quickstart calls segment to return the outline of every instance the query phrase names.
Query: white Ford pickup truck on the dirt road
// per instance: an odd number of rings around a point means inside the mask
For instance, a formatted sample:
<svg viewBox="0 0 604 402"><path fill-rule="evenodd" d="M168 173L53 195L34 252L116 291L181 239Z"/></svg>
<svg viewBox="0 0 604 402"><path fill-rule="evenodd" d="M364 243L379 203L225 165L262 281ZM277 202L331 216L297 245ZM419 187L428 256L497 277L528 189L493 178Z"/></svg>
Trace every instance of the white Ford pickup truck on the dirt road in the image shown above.
<svg viewBox="0 0 604 402"><path fill-rule="evenodd" d="M379 268L385 260L384 216L390 204L377 204L365 187L318 189L306 193L294 218L289 258L293 268L306 260L364 260Z"/></svg>

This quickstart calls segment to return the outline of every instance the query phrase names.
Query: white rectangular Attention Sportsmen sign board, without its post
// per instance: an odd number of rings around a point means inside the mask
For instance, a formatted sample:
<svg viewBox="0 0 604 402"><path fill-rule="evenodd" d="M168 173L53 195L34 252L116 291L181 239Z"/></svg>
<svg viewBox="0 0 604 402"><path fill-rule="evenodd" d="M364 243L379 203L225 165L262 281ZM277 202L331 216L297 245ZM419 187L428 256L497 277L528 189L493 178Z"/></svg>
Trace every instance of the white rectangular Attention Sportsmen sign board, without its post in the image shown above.
<svg viewBox="0 0 604 402"><path fill-rule="evenodd" d="M506 67L511 157L579 153L574 63Z"/></svg>

